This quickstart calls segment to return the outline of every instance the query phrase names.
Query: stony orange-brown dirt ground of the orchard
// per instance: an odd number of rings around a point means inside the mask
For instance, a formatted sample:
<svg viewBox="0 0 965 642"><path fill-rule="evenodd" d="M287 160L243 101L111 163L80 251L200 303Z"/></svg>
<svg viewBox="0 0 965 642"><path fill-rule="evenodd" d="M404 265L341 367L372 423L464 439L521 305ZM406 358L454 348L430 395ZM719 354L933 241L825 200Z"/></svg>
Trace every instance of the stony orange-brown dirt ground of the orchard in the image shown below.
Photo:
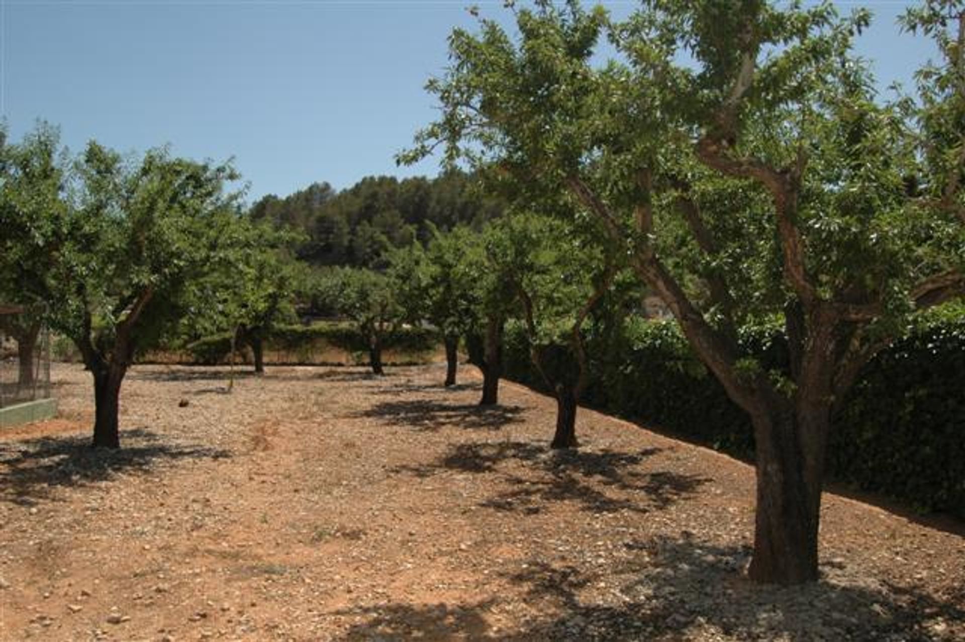
<svg viewBox="0 0 965 642"><path fill-rule="evenodd" d="M756 586L752 468L589 411L552 453L549 399L443 374L138 366L112 453L57 366L0 435L0 638L965 639L960 523L828 494L822 580Z"/></svg>

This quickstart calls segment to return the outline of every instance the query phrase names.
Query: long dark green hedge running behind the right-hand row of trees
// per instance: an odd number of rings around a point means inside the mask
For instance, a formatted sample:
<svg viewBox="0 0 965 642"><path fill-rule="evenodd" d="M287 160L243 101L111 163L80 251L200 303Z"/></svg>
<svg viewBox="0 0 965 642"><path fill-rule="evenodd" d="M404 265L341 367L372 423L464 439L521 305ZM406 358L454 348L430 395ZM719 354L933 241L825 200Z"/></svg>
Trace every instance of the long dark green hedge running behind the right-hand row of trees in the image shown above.
<svg viewBox="0 0 965 642"><path fill-rule="evenodd" d="M748 416L697 360L676 323L628 319L588 340L592 383L584 403L753 459ZM742 340L754 344L767 367L786 362L786 340L773 328ZM506 376L539 387L523 328L507 328L504 354ZM965 518L960 308L925 318L869 363L834 421L828 471L861 490Z"/></svg>

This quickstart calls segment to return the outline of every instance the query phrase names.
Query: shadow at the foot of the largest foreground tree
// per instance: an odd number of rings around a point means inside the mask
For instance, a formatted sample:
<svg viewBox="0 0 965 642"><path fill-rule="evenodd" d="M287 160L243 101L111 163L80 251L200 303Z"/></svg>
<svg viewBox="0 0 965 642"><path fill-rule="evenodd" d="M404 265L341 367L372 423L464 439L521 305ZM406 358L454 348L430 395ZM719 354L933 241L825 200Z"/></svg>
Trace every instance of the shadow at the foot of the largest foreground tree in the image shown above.
<svg viewBox="0 0 965 642"><path fill-rule="evenodd" d="M339 611L364 618L340 639L951 641L965 630L960 604L915 586L841 575L798 587L753 584L741 573L749 555L668 538L625 542L603 565L528 560L501 574L516 590L494 585L498 597L482 602ZM496 629L496 612L538 616L510 616L510 627Z"/></svg>

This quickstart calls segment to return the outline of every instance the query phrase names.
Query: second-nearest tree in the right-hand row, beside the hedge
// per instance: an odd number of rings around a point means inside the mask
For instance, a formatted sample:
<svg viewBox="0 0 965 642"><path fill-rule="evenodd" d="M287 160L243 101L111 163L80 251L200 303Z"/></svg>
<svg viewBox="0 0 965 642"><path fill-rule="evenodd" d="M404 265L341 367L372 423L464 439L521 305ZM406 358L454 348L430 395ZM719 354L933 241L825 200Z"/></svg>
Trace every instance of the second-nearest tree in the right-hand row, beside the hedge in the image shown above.
<svg viewBox="0 0 965 642"><path fill-rule="evenodd" d="M516 214L493 227L487 254L506 271L522 307L530 359L556 396L550 447L575 448L576 411L589 383L585 326L616 276L616 258L585 230L558 219Z"/></svg>

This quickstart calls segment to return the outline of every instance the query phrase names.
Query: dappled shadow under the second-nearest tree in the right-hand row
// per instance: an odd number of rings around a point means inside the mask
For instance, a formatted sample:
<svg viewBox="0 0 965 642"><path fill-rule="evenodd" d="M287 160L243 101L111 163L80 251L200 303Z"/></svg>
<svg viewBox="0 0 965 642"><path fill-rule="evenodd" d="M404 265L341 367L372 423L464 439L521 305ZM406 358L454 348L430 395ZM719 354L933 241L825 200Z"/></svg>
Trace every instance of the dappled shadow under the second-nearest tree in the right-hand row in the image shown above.
<svg viewBox="0 0 965 642"><path fill-rule="evenodd" d="M498 474L510 488L484 499L480 505L499 511L535 515L553 502L565 501L593 513L647 513L691 497L703 484L712 481L708 477L643 469L645 460L661 450L548 451L545 446L525 441L483 441L455 444L434 462L394 471L417 477L450 471ZM513 463L525 463L535 474L526 475Z"/></svg>

